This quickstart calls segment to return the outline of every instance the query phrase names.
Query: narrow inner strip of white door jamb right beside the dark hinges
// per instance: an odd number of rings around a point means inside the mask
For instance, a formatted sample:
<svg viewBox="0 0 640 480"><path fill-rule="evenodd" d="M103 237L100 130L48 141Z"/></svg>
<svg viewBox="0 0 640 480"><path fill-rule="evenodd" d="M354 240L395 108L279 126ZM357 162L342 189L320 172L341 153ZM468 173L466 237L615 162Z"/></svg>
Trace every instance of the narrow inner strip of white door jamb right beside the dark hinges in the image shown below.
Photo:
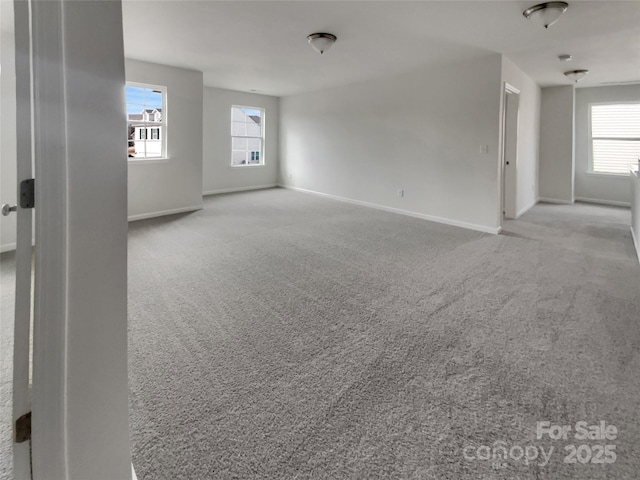
<svg viewBox="0 0 640 480"><path fill-rule="evenodd" d="M24 1L24 0L17 0ZM34 79L35 288L33 477L68 478L65 365L67 127L62 2L29 1ZM57 148L51 148L55 145Z"/></svg>

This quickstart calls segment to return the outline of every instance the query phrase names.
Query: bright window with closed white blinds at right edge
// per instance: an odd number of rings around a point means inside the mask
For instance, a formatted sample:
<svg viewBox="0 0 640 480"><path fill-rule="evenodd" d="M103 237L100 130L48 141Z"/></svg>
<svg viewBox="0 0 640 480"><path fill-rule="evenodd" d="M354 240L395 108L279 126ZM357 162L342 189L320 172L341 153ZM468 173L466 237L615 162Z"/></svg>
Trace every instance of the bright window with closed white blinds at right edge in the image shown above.
<svg viewBox="0 0 640 480"><path fill-rule="evenodd" d="M628 175L640 158L640 103L592 104L591 172Z"/></svg>

